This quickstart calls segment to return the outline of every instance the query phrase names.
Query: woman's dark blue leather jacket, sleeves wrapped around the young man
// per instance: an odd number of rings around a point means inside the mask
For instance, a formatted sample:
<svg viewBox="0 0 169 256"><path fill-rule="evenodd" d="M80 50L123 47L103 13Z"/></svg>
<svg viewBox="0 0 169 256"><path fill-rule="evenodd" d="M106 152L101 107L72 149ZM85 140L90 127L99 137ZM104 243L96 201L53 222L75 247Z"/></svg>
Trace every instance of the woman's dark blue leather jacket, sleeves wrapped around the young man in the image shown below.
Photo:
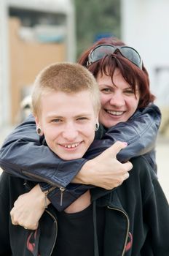
<svg viewBox="0 0 169 256"><path fill-rule="evenodd" d="M43 138L36 134L34 117L30 116L4 141L0 150L0 166L7 173L30 181L41 182L42 190L57 187L48 197L52 204L61 211L86 191L86 185L70 184L76 173L87 159L92 159L109 148L115 141L126 141L127 147L119 152L117 159L126 162L131 157L144 155L156 171L154 146L160 127L161 113L159 108L151 104L137 110L127 121L111 127L99 135L92 143L82 159L64 161L57 157L47 146L42 144ZM98 140L97 138L102 138ZM44 183L44 182L45 183ZM68 185L69 184L69 185ZM60 206L60 189L65 189L63 206Z"/></svg>

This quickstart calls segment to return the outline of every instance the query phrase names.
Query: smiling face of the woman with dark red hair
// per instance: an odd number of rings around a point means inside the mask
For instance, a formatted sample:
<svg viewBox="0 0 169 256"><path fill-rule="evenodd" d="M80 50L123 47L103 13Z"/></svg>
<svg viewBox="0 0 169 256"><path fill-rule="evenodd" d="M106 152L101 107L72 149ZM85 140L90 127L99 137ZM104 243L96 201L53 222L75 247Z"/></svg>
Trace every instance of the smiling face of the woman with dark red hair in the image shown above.
<svg viewBox="0 0 169 256"><path fill-rule="evenodd" d="M114 83L108 75L98 73L97 82L101 91L101 110L99 121L105 127L113 127L119 122L127 121L138 108L139 91L136 95L130 84L122 77L119 69L115 69Z"/></svg>

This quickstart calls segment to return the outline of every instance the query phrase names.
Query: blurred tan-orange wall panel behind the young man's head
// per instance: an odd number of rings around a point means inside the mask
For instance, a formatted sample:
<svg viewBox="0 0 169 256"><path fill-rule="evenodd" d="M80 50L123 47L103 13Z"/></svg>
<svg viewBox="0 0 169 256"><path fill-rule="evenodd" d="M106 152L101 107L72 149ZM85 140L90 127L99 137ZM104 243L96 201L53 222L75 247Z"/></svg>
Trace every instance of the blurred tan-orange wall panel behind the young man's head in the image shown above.
<svg viewBox="0 0 169 256"><path fill-rule="evenodd" d="M20 101L26 86L34 83L37 73L55 61L66 61L63 43L25 42L18 33L20 20L9 18L9 76L12 124L17 121Z"/></svg>

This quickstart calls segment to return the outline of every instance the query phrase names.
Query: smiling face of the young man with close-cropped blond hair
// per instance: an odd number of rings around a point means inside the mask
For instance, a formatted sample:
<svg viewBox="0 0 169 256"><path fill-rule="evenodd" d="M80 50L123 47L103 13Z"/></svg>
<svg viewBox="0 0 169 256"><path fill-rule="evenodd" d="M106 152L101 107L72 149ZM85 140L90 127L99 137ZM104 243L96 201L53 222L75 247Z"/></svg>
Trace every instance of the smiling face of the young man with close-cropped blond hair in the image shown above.
<svg viewBox="0 0 169 256"><path fill-rule="evenodd" d="M90 93L53 91L42 97L41 107L36 124L50 149L65 160L82 158L93 142L97 121Z"/></svg>

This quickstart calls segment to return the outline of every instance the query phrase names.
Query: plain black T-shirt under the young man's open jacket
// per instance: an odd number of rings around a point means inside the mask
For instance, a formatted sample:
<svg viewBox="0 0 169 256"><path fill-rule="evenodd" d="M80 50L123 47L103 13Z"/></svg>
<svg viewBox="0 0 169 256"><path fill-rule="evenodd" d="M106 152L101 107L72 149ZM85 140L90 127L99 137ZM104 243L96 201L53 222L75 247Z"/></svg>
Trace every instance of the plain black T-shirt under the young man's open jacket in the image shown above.
<svg viewBox="0 0 169 256"><path fill-rule="evenodd" d="M104 209L97 208L99 255L103 255ZM93 256L93 205L74 214L58 212L58 236L52 256Z"/></svg>

